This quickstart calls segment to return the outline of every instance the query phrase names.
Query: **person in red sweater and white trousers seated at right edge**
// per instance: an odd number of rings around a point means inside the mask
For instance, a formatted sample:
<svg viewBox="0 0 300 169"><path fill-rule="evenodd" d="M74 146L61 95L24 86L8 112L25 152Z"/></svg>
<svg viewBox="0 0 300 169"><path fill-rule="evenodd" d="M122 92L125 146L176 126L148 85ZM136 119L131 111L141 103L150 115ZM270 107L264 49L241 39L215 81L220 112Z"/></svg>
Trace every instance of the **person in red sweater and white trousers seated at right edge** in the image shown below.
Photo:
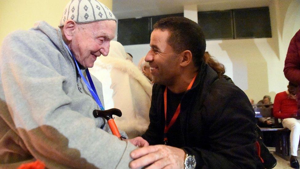
<svg viewBox="0 0 300 169"><path fill-rule="evenodd" d="M290 129L290 165L293 168L299 168L297 160L297 151L300 136L300 120L297 116L296 93L298 86L289 82L287 91L277 93L274 99L273 115L282 120L282 126Z"/></svg>

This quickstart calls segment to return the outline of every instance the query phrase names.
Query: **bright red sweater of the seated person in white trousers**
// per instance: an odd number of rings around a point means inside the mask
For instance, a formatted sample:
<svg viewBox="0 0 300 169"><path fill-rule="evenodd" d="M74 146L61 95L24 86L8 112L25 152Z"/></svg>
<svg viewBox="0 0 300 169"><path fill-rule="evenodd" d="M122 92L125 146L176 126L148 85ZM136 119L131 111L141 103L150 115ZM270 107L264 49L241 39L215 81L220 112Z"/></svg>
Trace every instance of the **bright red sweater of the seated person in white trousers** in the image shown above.
<svg viewBox="0 0 300 169"><path fill-rule="evenodd" d="M286 91L277 93L273 104L273 115L278 119L290 118L297 115L297 101L288 97Z"/></svg>

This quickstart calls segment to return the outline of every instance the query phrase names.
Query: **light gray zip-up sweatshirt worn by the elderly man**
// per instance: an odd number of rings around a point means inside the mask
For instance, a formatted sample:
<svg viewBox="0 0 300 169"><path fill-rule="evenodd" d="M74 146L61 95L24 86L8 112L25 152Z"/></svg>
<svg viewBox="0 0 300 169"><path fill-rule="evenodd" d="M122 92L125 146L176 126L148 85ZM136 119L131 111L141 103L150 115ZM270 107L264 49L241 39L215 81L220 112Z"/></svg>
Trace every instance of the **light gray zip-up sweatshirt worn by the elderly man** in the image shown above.
<svg viewBox="0 0 300 169"><path fill-rule="evenodd" d="M84 70L81 70L85 72ZM85 74L84 74L85 75ZM103 103L101 83L94 77ZM60 30L15 31L0 53L0 168L36 159L47 168L128 168L134 150L93 117L99 109Z"/></svg>

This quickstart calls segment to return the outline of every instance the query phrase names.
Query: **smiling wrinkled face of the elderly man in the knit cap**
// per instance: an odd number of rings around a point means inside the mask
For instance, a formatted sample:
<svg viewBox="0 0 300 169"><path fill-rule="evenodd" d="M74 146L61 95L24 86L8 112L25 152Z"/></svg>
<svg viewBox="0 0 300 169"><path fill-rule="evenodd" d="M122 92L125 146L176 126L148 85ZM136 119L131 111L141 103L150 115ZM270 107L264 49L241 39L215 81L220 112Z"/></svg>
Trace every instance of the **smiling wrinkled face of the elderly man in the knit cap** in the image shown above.
<svg viewBox="0 0 300 169"><path fill-rule="evenodd" d="M105 20L77 24L70 50L85 68L93 67L96 58L109 53L109 42L115 37L116 21Z"/></svg>

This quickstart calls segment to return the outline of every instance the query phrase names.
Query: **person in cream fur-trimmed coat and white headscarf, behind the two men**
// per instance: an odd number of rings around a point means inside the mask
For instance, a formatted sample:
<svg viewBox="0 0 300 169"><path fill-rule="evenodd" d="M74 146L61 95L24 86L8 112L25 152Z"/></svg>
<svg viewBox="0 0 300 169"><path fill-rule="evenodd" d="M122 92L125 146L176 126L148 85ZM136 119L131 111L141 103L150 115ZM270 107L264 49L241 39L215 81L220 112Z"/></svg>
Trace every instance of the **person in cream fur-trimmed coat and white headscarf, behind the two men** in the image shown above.
<svg viewBox="0 0 300 169"><path fill-rule="evenodd" d="M102 83L105 108L122 111L121 117L115 116L115 122L131 139L148 129L152 86L125 58L122 44L110 41L109 54L98 58L89 71Z"/></svg>

